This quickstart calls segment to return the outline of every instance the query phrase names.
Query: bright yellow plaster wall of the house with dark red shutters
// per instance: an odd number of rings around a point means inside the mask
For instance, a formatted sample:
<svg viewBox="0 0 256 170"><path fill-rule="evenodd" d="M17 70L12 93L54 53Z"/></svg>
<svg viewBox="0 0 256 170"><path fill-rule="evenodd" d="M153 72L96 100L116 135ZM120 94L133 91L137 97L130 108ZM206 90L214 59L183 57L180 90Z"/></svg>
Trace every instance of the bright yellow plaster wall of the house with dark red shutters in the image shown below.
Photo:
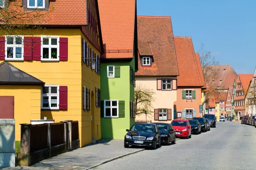
<svg viewBox="0 0 256 170"><path fill-rule="evenodd" d="M47 116L47 119L54 119L55 122L62 120L78 120L79 121L79 139L80 145L91 143L91 111L82 110L82 86L90 88L93 91L94 102L90 98L91 106L95 106L95 87L100 88L100 76L91 70L87 65L81 66L81 38L85 36L80 29L47 29L37 32L26 31L26 35L33 34L37 36L67 37L68 38L68 61L60 62L41 62L41 61L23 61L10 62L20 70L30 74L41 81L45 85L64 85L68 88L68 106L67 111L41 111L41 116ZM25 37L26 37L25 35ZM87 40L87 39L86 39ZM90 48L98 55L99 51L94 48L88 40ZM0 63L3 61L0 61ZM92 94L92 93L91 93ZM92 105L93 104L93 105ZM41 103L38 104L41 107ZM91 107L91 110L92 107ZM100 109L95 108L95 127L98 126L96 139L101 138L100 134ZM16 113L16 111L15 111ZM31 118L29 118L31 119ZM40 119L38 116L37 119Z"/></svg>

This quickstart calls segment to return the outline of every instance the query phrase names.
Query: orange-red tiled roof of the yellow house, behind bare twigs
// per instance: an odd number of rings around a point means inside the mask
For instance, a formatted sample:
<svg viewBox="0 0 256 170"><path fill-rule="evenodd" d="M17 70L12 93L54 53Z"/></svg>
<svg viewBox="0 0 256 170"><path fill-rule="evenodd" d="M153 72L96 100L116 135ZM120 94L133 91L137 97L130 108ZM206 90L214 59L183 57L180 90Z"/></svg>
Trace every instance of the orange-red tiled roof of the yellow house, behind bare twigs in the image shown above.
<svg viewBox="0 0 256 170"><path fill-rule="evenodd" d="M50 1L50 0L49 0ZM20 0L9 1L9 11L24 17L27 24L40 25L87 25L87 0L54 0L49 3L49 11L24 11ZM95 0L93 0L95 1ZM40 16L41 20L33 16ZM30 18L30 19L28 19ZM20 22L14 20L13 23ZM33 22L33 23L32 23Z"/></svg>

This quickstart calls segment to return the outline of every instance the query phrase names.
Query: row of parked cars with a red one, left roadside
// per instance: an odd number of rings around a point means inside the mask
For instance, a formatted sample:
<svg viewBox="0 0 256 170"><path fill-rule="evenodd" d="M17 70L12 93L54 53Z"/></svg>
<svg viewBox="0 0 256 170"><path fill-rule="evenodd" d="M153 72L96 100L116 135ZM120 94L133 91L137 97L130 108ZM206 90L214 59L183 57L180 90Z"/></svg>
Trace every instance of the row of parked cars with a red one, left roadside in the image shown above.
<svg viewBox="0 0 256 170"><path fill-rule="evenodd" d="M171 123L135 123L131 129L126 129L124 147L145 146L154 150L161 144L175 144L176 137L189 139L192 133L200 134L211 130L211 127L216 127L215 116L211 119L212 116L206 116L209 119L174 119Z"/></svg>

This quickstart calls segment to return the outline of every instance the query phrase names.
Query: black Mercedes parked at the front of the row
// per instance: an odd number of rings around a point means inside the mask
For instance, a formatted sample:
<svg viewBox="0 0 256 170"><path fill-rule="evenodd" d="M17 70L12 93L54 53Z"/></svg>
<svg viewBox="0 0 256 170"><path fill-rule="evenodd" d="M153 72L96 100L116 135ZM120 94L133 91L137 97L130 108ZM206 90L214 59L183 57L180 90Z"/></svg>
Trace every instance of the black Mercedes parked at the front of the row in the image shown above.
<svg viewBox="0 0 256 170"><path fill-rule="evenodd" d="M135 123L131 129L126 129L124 147L129 145L145 146L156 149L161 146L160 131L156 124L152 123Z"/></svg>

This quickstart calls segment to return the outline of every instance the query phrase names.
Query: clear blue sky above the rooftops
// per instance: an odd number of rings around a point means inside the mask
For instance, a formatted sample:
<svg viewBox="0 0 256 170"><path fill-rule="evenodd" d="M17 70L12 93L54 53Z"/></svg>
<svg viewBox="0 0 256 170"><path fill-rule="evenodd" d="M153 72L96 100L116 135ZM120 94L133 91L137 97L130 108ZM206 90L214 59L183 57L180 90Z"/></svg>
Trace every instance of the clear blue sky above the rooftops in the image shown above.
<svg viewBox="0 0 256 170"><path fill-rule="evenodd" d="M191 36L237 74L256 66L256 0L137 0L138 15L171 16L174 36Z"/></svg>

